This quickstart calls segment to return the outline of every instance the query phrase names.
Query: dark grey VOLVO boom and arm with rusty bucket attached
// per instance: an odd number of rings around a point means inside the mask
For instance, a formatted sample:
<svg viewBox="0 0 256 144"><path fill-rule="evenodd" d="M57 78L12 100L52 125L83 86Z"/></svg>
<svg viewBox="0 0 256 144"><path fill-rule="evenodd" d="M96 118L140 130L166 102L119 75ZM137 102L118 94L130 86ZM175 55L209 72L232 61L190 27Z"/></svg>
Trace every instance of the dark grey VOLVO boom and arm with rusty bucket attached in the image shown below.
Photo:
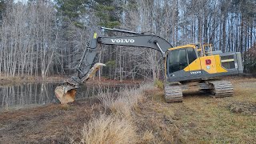
<svg viewBox="0 0 256 144"><path fill-rule="evenodd" d="M118 37L98 37L98 35L94 33L93 38L90 41L90 46L84 50L82 58L80 62L78 62L77 74L65 81L63 86L58 86L54 90L56 97L62 104L74 102L76 90L79 88L79 86L91 78L101 66L105 66L102 63L96 62L98 56L98 44L150 48L161 52L163 58L166 57L166 51L172 47L164 38L156 35L145 35L133 31L110 29L105 27L102 27L102 29L113 30L130 35Z"/></svg>

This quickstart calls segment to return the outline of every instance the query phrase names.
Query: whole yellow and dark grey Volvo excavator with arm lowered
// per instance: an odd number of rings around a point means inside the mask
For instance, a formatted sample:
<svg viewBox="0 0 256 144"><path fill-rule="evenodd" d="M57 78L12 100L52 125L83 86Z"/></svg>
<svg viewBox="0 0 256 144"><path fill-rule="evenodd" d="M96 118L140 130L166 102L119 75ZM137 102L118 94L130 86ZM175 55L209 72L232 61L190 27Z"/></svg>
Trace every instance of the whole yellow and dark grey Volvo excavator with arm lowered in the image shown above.
<svg viewBox="0 0 256 144"><path fill-rule="evenodd" d="M98 44L135 46L159 51L165 66L166 102L182 102L182 91L193 87L210 92L215 97L231 96L234 92L233 85L220 78L243 73L239 52L213 51L210 44L200 43L173 47L164 38L154 34L105 27L102 27L102 30L112 30L126 35L106 37L94 33L90 45L86 47L78 62L77 75L65 81L63 86L56 87L54 91L62 104L74 102L79 86L91 78L101 66L105 66L96 62Z"/></svg>

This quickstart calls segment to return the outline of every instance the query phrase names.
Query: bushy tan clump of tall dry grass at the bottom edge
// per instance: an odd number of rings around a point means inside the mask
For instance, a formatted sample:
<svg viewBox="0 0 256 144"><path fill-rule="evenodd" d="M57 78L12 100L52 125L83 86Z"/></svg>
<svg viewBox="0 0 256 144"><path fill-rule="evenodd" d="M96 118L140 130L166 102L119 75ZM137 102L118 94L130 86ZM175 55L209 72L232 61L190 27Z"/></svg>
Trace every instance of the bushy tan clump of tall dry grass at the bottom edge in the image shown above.
<svg viewBox="0 0 256 144"><path fill-rule="evenodd" d="M102 114L83 127L81 142L86 144L134 143L137 141L135 130L133 123L125 118Z"/></svg>

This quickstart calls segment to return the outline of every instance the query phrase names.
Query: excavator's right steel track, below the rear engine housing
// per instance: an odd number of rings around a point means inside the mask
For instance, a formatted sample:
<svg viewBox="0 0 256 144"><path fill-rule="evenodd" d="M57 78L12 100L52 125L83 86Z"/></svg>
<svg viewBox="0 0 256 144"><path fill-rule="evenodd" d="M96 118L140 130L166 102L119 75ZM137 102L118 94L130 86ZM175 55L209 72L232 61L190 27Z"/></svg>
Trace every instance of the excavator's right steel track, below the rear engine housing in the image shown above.
<svg viewBox="0 0 256 144"><path fill-rule="evenodd" d="M216 98L230 97L234 93L234 87L229 81L210 81L209 83L213 87L210 91Z"/></svg>

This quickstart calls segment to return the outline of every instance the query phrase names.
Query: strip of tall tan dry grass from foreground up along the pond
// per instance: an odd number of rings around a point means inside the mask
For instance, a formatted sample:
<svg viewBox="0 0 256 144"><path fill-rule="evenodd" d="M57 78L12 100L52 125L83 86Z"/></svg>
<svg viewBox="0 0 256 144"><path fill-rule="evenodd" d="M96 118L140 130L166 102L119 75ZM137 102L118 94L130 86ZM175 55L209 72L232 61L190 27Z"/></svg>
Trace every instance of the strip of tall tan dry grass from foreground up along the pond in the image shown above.
<svg viewBox="0 0 256 144"><path fill-rule="evenodd" d="M153 85L153 84L152 84ZM118 94L99 94L105 110L110 114L101 114L93 118L82 129L82 143L135 143L150 142L154 135L150 131L142 134L139 140L137 126L134 125L134 113L138 110L139 103L145 99L144 90L151 88L150 85L141 86L138 89L126 89Z"/></svg>

